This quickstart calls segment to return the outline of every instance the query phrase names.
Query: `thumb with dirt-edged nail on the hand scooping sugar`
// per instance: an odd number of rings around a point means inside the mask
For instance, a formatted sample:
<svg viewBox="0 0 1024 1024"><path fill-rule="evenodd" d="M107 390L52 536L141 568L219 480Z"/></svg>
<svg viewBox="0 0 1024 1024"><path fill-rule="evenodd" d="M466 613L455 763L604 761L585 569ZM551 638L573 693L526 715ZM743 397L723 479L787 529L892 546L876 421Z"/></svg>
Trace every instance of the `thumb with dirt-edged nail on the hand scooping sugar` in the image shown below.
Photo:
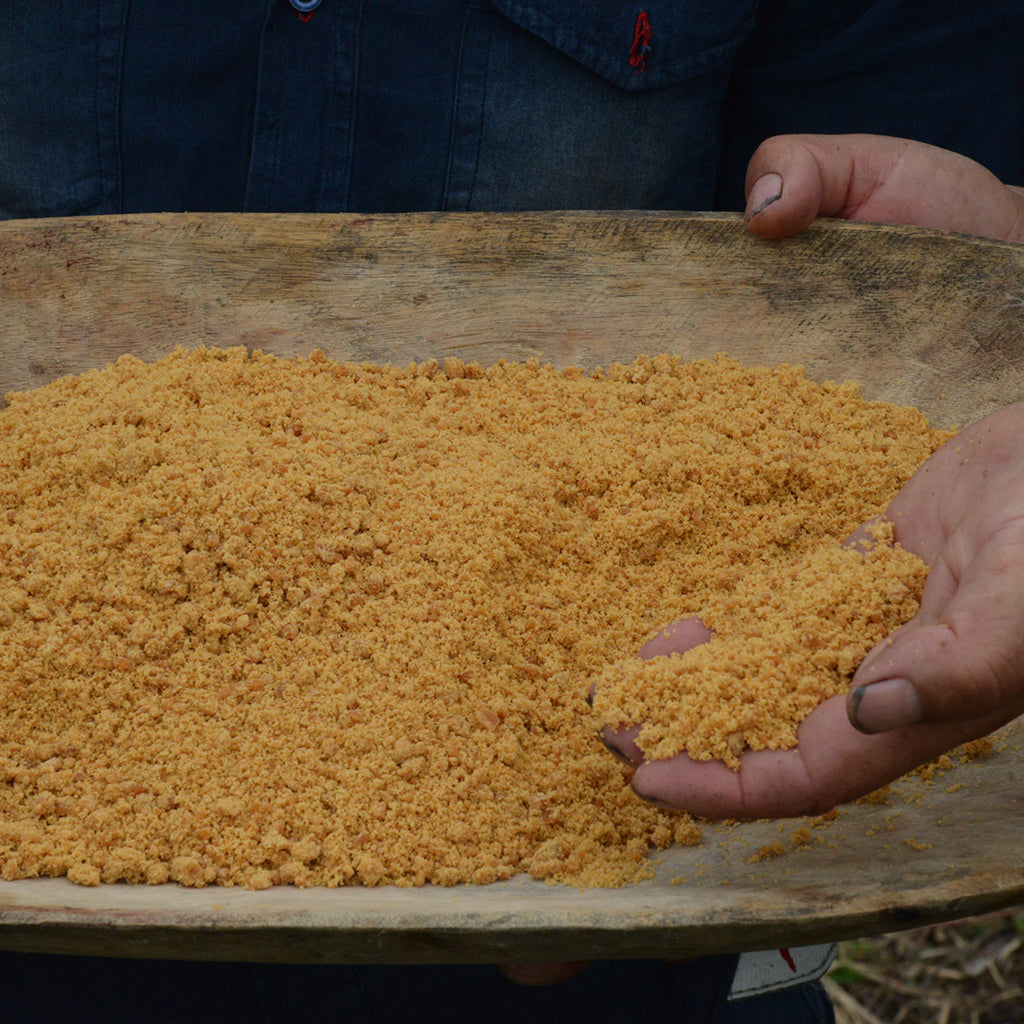
<svg viewBox="0 0 1024 1024"><path fill-rule="evenodd" d="M963 574L940 553L918 615L854 675L847 700L853 725L876 733L984 719L994 728L990 719L1002 724L1024 710L1022 535L1017 524L1006 527Z"/></svg>

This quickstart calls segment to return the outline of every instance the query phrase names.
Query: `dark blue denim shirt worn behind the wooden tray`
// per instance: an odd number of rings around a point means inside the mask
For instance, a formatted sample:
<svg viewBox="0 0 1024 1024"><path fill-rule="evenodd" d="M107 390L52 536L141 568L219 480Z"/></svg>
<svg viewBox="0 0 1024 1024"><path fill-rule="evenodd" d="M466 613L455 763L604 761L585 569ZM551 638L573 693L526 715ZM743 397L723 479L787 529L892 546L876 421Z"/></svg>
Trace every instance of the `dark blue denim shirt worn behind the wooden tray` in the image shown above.
<svg viewBox="0 0 1024 1024"><path fill-rule="evenodd" d="M783 131L907 135L1024 178L1024 0L297 6L8 11L0 217L736 209Z"/></svg>

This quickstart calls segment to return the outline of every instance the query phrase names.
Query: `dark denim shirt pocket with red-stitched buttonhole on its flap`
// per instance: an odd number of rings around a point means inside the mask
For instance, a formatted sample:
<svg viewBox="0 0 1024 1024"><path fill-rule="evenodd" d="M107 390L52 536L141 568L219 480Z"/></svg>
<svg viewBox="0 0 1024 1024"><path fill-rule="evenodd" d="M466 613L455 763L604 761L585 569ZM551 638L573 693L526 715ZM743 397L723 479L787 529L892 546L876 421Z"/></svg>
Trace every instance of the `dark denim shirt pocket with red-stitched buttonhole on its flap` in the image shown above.
<svg viewBox="0 0 1024 1024"><path fill-rule="evenodd" d="M446 209L710 209L757 0L493 0L463 34Z"/></svg>

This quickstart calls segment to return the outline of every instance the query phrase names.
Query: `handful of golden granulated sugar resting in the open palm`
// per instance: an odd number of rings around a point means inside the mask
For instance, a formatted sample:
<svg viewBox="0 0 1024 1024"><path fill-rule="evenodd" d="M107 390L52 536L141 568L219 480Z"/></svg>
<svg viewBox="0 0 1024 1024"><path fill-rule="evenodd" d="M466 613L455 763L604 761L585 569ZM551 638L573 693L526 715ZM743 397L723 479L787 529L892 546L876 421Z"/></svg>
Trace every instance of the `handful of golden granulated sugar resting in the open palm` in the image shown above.
<svg viewBox="0 0 1024 1024"><path fill-rule="evenodd" d="M892 544L890 524L861 553L837 541L794 558L758 561L727 592L702 595L712 639L685 654L606 669L595 711L603 724L642 722L653 760L686 753L739 767L744 750L797 745L797 726L845 693L864 655L911 618L928 574Z"/></svg>

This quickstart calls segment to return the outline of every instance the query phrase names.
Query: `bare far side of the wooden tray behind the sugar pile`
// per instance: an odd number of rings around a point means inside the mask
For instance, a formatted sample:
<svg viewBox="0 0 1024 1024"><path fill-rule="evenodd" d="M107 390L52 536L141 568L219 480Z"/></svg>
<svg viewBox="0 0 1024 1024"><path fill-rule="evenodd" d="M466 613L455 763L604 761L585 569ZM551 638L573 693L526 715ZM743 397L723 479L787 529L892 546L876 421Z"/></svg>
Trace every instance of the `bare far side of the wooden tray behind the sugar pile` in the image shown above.
<svg viewBox="0 0 1024 1024"><path fill-rule="evenodd" d="M0 391L175 344L404 364L800 361L942 420L1024 392L1024 251L730 215L165 215L0 224Z"/></svg>

